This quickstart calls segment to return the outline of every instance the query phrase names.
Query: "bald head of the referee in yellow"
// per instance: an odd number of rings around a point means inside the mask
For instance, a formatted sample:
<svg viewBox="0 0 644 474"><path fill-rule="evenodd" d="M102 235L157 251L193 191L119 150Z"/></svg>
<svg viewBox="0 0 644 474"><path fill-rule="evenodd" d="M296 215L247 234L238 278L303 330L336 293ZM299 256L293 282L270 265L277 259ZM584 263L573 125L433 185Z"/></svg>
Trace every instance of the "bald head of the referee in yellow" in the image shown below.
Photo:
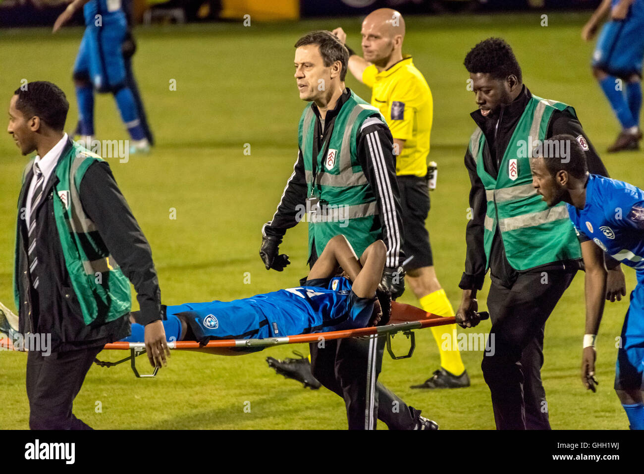
<svg viewBox="0 0 644 474"><path fill-rule="evenodd" d="M379 8L363 21L362 48L366 61L379 69L403 59L404 19L396 10Z"/></svg>

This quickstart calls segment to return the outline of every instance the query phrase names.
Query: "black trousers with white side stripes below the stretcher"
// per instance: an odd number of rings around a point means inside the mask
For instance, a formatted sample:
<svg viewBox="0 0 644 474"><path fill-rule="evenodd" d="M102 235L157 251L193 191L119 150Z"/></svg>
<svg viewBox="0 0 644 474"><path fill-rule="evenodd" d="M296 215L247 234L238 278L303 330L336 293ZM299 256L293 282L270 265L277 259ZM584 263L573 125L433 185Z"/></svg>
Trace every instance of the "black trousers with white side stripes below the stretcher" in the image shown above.
<svg viewBox="0 0 644 474"><path fill-rule="evenodd" d="M370 344L371 343L371 344ZM326 388L345 400L349 430L374 429L376 418L390 430L413 430L421 414L377 382L383 363L385 340L337 339L310 343L311 370ZM374 400L367 399L370 361L375 362Z"/></svg>

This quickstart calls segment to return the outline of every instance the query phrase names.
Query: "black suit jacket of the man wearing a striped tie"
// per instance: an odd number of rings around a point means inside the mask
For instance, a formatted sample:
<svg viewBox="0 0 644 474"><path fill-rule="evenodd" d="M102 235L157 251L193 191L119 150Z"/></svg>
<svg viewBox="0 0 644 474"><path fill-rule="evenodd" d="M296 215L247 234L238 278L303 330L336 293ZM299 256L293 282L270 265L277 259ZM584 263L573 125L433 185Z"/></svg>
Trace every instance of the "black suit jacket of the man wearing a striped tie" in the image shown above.
<svg viewBox="0 0 644 474"><path fill-rule="evenodd" d="M61 156L68 152L71 140ZM52 352L102 346L130 332L128 314L109 323L97 319L85 325L81 307L71 287L61 242L53 215L53 186L58 182L55 169L44 187L36 209L36 247L38 289L32 288L26 248L28 236L23 209L33 171L25 177L18 202L17 283L20 294L19 332L52 334ZM107 162L95 162L81 181L80 197L84 212L97 225L109 252L124 275L137 290L141 323L161 319L160 290L152 252L109 169Z"/></svg>

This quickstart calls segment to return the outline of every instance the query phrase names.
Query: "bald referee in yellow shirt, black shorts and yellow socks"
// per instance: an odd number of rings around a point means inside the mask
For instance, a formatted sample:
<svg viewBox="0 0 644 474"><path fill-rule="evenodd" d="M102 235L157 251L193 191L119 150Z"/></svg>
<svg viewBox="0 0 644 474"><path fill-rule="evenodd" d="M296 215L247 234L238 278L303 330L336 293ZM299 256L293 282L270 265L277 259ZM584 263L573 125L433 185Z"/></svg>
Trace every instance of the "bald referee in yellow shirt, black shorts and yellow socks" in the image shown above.
<svg viewBox="0 0 644 474"><path fill-rule="evenodd" d="M425 220L430 211L427 158L433 100L425 78L403 55L403 15L390 8L369 14L362 24L360 57L351 48L349 70L358 81L372 88L371 104L387 120L397 155L396 175L403 209L406 282L424 310L440 316L454 316L450 300L440 287L433 267L430 236ZM346 33L336 28L333 33L345 43ZM412 388L459 388L469 386L468 373L458 348L442 350L443 334L451 337L456 325L431 328L440 351L440 369L430 379Z"/></svg>

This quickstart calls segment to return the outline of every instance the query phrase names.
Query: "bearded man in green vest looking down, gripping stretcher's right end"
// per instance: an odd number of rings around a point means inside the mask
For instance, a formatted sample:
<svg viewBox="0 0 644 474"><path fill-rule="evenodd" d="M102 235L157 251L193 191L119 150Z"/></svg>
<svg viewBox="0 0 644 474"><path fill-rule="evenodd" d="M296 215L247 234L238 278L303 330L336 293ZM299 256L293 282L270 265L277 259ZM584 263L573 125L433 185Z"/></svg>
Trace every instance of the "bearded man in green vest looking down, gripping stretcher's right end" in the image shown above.
<svg viewBox="0 0 644 474"><path fill-rule="evenodd" d="M533 95L503 39L488 38L466 55L478 110L465 155L472 218L466 228L465 272L457 322L477 324L477 291L490 270L487 304L493 354L481 368L498 430L549 430L541 368L545 321L581 268L579 243L565 208L548 211L532 187L529 156L535 140L567 133L587 151L589 166L607 174L571 106ZM521 147L525 153L518 153ZM534 146L534 145L533 145ZM615 292L624 285L611 272ZM611 289L609 289L609 292Z"/></svg>

